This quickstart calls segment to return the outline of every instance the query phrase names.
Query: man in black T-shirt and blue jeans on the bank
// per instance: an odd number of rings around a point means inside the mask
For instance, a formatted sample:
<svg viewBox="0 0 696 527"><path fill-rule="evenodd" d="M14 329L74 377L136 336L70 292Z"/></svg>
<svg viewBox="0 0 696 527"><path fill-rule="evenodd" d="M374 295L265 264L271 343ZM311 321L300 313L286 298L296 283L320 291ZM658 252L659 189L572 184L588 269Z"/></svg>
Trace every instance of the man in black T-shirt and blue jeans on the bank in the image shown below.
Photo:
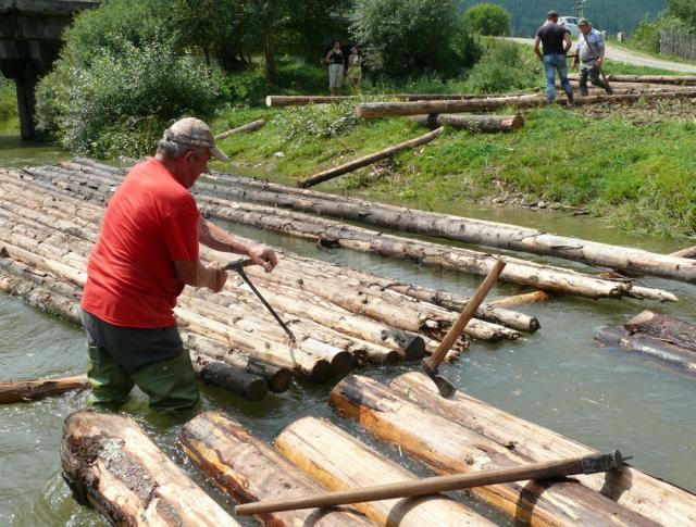
<svg viewBox="0 0 696 527"><path fill-rule="evenodd" d="M543 45L543 54L539 45ZM570 32L558 24L558 11L549 11L546 23L537 29L534 40L534 52L544 63L546 99L549 104L556 100L556 72L568 96L568 104L573 104L573 88L568 80L568 50L571 46Z"/></svg>

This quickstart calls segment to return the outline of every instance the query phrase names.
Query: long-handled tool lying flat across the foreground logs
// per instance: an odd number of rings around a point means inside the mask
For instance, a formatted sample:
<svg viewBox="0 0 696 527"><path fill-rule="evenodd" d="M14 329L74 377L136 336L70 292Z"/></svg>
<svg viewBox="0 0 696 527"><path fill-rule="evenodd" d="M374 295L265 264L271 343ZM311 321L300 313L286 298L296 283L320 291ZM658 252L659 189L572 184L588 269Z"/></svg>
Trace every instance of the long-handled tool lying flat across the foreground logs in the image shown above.
<svg viewBox="0 0 696 527"><path fill-rule="evenodd" d="M502 468L498 470L434 476L423 478L418 481L377 485L362 489L324 492L316 495L288 500L247 503L245 505L237 505L235 507L235 514L250 515L268 512L296 511L299 509L347 505L350 503L390 500L395 498L411 498L415 495L445 492L448 490L485 487L488 485L523 481L527 479L538 480L572 476L574 474L596 474L599 472L620 468L622 466L623 461L621 453L619 451L614 451L608 454L570 457L546 463L532 463L525 466Z"/></svg>

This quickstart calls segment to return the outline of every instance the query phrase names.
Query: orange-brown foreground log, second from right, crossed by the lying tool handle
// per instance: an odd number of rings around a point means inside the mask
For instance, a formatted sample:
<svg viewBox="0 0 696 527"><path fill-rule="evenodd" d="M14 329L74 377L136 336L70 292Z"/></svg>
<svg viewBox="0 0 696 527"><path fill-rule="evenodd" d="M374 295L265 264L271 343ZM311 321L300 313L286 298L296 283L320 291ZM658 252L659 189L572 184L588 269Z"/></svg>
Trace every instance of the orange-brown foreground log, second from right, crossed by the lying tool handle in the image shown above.
<svg viewBox="0 0 696 527"><path fill-rule="evenodd" d="M340 381L332 390L331 403L343 416L358 421L382 440L398 443L440 474L507 468L526 461L366 377L350 376ZM521 524L655 525L573 480L518 481L471 491Z"/></svg>

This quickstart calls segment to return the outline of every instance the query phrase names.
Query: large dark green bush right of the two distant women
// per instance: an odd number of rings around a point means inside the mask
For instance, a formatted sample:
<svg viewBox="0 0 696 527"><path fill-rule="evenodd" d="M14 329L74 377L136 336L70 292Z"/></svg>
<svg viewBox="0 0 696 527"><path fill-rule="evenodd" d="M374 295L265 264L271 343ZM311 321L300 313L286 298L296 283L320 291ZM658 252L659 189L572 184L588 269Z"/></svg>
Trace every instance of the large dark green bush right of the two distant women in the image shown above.
<svg viewBox="0 0 696 527"><path fill-rule="evenodd" d="M365 65L382 76L452 75L465 66L455 0L357 0L351 32Z"/></svg>

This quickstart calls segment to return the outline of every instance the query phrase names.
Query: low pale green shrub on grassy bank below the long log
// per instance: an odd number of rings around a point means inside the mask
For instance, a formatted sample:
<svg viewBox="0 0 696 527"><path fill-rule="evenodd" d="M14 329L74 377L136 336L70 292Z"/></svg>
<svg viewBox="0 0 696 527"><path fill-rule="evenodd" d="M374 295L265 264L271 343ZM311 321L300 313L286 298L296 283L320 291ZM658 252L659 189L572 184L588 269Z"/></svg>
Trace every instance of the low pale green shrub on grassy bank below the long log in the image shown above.
<svg viewBox="0 0 696 527"><path fill-rule="evenodd" d="M308 104L288 109L274 117L273 123L285 141L301 145L312 138L343 136L358 126L360 118L351 103Z"/></svg>

